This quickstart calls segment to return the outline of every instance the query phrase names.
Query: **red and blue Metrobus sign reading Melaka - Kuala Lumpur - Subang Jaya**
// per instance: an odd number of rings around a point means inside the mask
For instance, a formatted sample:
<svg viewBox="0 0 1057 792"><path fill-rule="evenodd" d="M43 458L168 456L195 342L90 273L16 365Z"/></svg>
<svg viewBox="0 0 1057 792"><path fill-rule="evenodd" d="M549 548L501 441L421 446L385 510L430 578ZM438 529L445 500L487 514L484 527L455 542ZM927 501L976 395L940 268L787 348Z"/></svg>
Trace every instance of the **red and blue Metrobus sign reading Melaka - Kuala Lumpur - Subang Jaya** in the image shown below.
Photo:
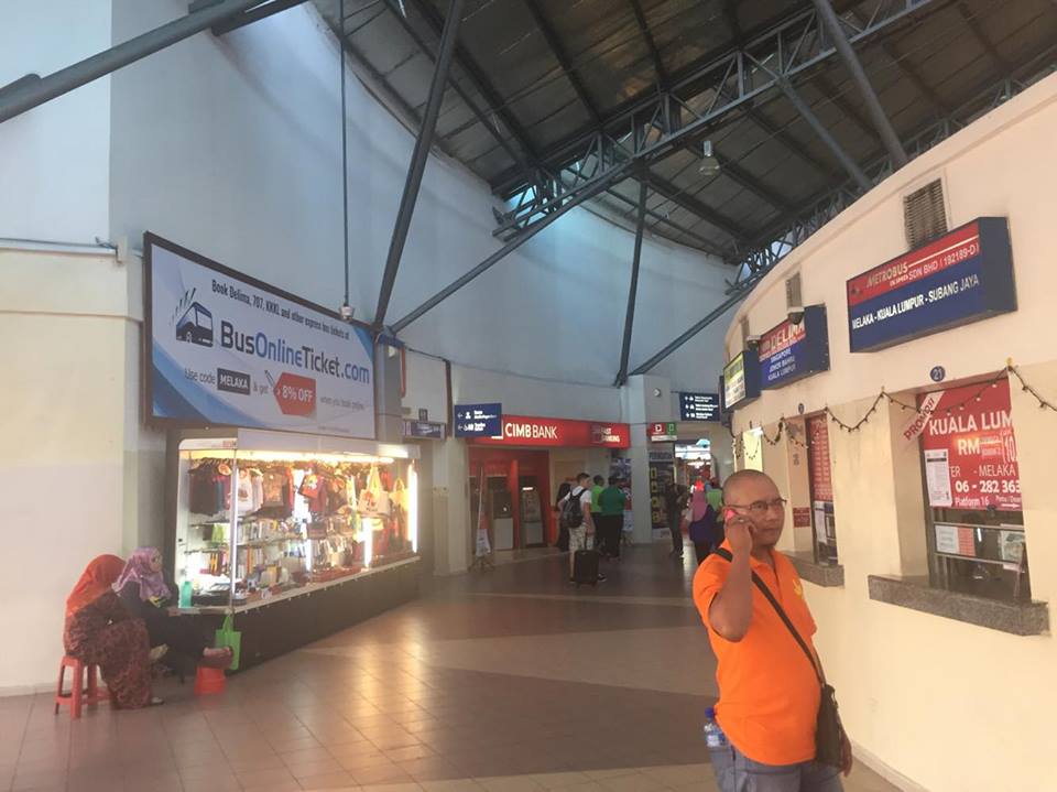
<svg viewBox="0 0 1057 792"><path fill-rule="evenodd" d="M980 217L848 281L851 351L865 352L1016 311L1004 217Z"/></svg>

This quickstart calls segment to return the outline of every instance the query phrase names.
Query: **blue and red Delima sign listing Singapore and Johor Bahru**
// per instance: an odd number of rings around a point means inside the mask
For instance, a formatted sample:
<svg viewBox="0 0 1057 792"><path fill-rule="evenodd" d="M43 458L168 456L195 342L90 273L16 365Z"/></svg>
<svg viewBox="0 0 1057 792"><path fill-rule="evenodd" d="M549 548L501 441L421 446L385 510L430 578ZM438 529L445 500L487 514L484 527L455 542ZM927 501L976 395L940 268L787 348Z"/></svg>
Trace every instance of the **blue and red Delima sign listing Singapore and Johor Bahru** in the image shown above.
<svg viewBox="0 0 1057 792"><path fill-rule="evenodd" d="M756 350L762 388L781 388L829 369L826 306L809 305L798 324L788 319L763 334Z"/></svg>

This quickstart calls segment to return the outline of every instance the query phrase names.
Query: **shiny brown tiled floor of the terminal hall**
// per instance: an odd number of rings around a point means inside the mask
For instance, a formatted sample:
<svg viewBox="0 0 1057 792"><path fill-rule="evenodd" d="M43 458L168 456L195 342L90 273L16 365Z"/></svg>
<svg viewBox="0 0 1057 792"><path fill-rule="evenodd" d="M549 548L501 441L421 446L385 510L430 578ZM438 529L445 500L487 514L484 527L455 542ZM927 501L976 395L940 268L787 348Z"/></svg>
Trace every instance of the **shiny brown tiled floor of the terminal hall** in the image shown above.
<svg viewBox="0 0 1057 792"><path fill-rule="evenodd" d="M663 545L595 589L549 557L422 599L163 707L78 722L0 699L0 790L713 790L691 573ZM849 792L893 788L865 770Z"/></svg>

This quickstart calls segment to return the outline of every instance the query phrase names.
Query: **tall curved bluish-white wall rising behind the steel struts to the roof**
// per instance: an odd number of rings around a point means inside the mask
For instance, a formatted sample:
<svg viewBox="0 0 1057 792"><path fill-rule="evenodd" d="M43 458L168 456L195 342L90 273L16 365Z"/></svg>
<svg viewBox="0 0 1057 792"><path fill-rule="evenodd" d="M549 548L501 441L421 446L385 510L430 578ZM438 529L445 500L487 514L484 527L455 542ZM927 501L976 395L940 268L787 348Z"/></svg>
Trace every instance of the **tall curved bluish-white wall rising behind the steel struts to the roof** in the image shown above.
<svg viewBox="0 0 1057 792"><path fill-rule="evenodd" d="M115 0L115 37L185 9L184 0ZM113 236L152 229L337 307L338 79L337 43L310 3L222 39L195 36L117 73ZM355 77L348 133L351 304L372 318L414 140ZM390 322L499 247L493 205L487 185L461 165L431 160ZM455 362L609 387L619 368L632 247L628 231L573 211L403 335ZM632 368L719 302L730 274L697 251L646 239ZM715 327L657 373L679 388L715 386L721 325ZM602 401L600 409L613 408L615 395ZM545 404L524 412L546 414Z"/></svg>

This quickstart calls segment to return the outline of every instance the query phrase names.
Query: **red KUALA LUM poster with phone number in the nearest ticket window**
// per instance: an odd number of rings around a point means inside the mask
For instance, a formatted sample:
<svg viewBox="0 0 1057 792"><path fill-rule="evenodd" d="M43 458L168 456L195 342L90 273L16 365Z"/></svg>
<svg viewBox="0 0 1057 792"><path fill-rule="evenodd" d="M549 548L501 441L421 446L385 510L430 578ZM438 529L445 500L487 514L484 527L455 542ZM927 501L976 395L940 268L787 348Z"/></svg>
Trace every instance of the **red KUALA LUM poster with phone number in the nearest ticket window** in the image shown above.
<svg viewBox="0 0 1057 792"><path fill-rule="evenodd" d="M937 508L1020 511L1010 386L1002 380L982 392L980 388L942 391L922 433L928 502Z"/></svg>

